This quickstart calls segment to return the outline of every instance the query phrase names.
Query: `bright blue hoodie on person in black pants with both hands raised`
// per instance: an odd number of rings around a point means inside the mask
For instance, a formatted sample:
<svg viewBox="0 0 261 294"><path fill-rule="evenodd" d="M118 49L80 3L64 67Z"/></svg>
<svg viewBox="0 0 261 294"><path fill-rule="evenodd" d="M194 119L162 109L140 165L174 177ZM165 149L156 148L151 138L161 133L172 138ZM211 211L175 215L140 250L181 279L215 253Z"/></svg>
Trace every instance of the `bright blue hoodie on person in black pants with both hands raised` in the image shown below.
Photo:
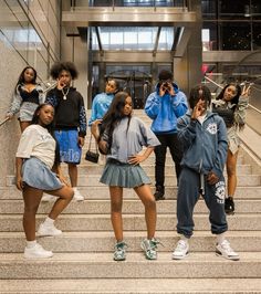
<svg viewBox="0 0 261 294"><path fill-rule="evenodd" d="M145 113L153 119L152 130L158 135L177 133L177 118L188 109L186 95L175 83L173 85L175 96L167 93L160 97L159 85L157 85L156 92L152 93L146 101Z"/></svg>

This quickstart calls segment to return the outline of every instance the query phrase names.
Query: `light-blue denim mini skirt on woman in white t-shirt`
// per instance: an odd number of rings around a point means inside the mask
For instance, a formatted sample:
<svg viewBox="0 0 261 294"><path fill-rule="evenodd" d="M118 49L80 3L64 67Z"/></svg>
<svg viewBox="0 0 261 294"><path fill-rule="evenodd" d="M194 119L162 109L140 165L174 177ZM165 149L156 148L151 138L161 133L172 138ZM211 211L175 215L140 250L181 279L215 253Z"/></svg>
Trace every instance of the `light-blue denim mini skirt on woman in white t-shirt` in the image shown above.
<svg viewBox="0 0 261 294"><path fill-rule="evenodd" d="M40 190L52 191L63 187L56 175L36 157L24 160L22 178L28 186Z"/></svg>

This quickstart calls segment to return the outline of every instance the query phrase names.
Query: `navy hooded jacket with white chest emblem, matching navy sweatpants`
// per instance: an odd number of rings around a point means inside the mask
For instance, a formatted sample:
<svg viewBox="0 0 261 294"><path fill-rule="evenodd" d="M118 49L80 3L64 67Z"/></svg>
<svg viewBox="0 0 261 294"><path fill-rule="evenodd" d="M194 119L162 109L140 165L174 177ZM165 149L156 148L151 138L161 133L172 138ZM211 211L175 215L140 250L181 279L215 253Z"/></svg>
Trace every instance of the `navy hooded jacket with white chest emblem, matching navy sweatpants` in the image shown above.
<svg viewBox="0 0 261 294"><path fill-rule="evenodd" d="M227 128L222 117L207 112L201 125L186 114L178 119L177 128L184 146L181 166L205 175L213 171L220 177L228 151Z"/></svg>

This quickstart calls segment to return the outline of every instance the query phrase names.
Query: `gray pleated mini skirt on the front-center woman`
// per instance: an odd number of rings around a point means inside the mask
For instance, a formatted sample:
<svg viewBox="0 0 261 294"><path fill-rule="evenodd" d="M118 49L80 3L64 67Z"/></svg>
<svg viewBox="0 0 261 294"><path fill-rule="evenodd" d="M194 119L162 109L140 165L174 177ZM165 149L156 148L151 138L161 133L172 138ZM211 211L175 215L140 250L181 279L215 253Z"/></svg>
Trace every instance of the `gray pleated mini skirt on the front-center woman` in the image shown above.
<svg viewBox="0 0 261 294"><path fill-rule="evenodd" d="M135 188L144 183L150 183L150 179L140 166L122 164L114 159L108 159L100 182L107 186L122 188Z"/></svg>

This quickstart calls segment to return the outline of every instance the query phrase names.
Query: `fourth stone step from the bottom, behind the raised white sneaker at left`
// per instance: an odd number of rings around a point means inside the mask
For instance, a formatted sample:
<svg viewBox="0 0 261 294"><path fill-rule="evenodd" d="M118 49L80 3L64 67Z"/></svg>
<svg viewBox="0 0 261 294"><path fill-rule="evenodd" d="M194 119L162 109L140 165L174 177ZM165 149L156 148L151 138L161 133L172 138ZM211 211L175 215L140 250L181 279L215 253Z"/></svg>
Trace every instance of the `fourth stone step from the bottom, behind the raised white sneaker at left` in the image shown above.
<svg viewBox="0 0 261 294"><path fill-rule="evenodd" d="M38 214L38 225L46 216ZM208 214L195 214L195 230L209 230L210 224ZM157 217L157 231L175 230L177 219L175 214L159 214ZM229 230L240 231L260 231L261 214L236 213L228 217ZM111 217L107 214L62 214L56 221L58 228L62 231L105 231L112 230ZM144 214L124 216L125 231L143 231L146 229ZM21 232L22 214L2 214L0 216L0 231L2 232Z"/></svg>

